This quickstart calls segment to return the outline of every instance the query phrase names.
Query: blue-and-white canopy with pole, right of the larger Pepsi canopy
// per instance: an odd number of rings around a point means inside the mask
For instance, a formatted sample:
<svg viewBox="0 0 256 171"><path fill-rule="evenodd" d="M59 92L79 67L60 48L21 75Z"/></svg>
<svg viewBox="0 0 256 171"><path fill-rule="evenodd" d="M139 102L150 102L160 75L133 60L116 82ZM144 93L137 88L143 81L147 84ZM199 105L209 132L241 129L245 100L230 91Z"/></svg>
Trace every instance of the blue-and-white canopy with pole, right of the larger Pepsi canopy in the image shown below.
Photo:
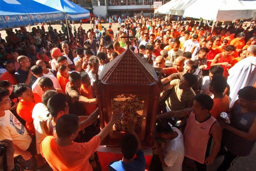
<svg viewBox="0 0 256 171"><path fill-rule="evenodd" d="M81 6L72 3L69 0L34 0L46 6L52 7L56 10L62 11L66 17L66 25L68 27L67 19L78 20L90 17L90 12ZM67 29L68 30L68 29ZM68 31L69 37L69 31Z"/></svg>

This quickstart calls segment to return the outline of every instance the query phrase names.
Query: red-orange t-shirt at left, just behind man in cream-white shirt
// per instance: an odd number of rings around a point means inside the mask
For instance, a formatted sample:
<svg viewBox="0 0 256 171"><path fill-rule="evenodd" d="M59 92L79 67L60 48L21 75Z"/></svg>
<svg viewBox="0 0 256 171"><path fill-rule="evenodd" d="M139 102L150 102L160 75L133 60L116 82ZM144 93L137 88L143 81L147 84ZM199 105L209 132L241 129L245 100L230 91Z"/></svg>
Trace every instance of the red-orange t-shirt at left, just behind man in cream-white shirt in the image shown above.
<svg viewBox="0 0 256 171"><path fill-rule="evenodd" d="M23 100L20 100L17 105L16 112L23 120L26 121L26 127L28 128L30 133L32 135L35 135L36 132L33 124L32 111L37 103L42 103L42 100L37 93L33 92L33 94L35 103L24 102Z"/></svg>

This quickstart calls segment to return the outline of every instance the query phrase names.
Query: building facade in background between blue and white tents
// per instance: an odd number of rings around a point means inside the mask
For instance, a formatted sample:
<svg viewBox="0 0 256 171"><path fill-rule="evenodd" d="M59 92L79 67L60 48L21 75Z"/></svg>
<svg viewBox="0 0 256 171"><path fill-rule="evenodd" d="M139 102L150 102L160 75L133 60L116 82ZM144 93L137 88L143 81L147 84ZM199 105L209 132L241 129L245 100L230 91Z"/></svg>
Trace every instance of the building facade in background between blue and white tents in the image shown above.
<svg viewBox="0 0 256 171"><path fill-rule="evenodd" d="M95 16L108 17L112 15L133 16L154 14L154 1L162 4L170 0L71 0L81 7L94 13Z"/></svg>

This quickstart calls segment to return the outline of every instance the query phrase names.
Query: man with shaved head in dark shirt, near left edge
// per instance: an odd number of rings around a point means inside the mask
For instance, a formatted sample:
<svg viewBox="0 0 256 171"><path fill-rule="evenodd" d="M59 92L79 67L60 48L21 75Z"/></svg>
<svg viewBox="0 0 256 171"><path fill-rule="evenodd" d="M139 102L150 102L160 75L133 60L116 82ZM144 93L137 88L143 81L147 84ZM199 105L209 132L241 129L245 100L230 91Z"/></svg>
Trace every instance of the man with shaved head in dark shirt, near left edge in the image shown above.
<svg viewBox="0 0 256 171"><path fill-rule="evenodd" d="M25 83L26 85L30 85L31 81L31 70L30 70L30 61L26 56L19 56L17 61L20 64L20 68L15 72L15 78L19 83ZM33 83L32 83L33 84Z"/></svg>

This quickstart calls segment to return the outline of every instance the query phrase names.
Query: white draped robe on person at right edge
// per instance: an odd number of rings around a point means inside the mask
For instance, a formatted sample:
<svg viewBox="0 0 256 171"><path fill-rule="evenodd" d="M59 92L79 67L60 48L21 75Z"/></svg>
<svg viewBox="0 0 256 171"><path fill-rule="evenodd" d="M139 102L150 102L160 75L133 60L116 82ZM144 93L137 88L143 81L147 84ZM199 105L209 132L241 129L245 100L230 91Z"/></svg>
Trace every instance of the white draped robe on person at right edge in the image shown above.
<svg viewBox="0 0 256 171"><path fill-rule="evenodd" d="M230 107L238 98L237 93L245 86L253 86L256 81L256 57L250 56L236 63L228 71L230 86Z"/></svg>

